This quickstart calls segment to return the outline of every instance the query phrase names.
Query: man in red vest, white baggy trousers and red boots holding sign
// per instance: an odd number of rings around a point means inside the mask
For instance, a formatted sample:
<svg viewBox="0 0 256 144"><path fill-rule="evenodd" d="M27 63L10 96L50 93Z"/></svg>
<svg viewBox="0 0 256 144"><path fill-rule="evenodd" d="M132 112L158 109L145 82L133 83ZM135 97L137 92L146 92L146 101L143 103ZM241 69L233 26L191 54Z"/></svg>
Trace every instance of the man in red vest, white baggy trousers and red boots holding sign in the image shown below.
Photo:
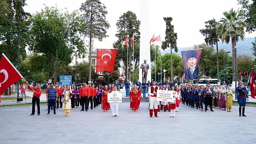
<svg viewBox="0 0 256 144"><path fill-rule="evenodd" d="M157 82L155 80L153 80L153 85L150 87L149 90L149 115L152 118L153 116L153 109L154 109L154 115L155 117L157 116L157 112L158 112L158 102L157 102L157 89L158 87L155 85Z"/></svg>

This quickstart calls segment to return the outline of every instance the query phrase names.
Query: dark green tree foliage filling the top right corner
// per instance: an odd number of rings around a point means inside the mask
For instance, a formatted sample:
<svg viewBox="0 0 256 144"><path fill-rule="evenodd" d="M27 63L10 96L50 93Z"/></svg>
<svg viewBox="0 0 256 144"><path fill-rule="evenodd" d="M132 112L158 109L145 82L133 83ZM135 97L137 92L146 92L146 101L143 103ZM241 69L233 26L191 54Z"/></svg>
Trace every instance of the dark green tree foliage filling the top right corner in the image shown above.
<svg viewBox="0 0 256 144"><path fill-rule="evenodd" d="M256 30L256 0L238 0L238 4L242 7L240 8L240 13L243 14L243 19L248 26L246 31L251 33Z"/></svg>

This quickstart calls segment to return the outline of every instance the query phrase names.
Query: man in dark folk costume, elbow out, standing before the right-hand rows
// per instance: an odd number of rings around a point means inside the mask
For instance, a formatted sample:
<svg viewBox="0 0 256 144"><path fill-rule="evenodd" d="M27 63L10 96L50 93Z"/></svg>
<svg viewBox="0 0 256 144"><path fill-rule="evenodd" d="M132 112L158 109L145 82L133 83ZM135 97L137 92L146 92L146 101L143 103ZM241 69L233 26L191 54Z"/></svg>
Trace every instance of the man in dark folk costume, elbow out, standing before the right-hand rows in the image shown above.
<svg viewBox="0 0 256 144"><path fill-rule="evenodd" d="M199 96L202 95L202 93L205 93L205 112L207 110L207 106L209 105L210 106L210 110L211 112L214 112L213 111L213 108L212 108L212 100L213 100L213 96L214 96L214 92L213 92L213 89L210 88L210 83L207 83L206 84L206 87L199 93Z"/></svg>

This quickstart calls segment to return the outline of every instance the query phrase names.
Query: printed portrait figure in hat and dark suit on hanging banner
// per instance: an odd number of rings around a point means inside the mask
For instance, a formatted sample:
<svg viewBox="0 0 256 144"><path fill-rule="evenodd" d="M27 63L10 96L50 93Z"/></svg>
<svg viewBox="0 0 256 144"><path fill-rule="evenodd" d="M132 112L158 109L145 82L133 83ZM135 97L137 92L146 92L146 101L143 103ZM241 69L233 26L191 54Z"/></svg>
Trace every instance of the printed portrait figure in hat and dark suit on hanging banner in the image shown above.
<svg viewBox="0 0 256 144"><path fill-rule="evenodd" d="M185 71L185 79L197 79L199 68L197 63L197 53L196 51L190 51L186 54L186 58L189 64L189 68Z"/></svg>

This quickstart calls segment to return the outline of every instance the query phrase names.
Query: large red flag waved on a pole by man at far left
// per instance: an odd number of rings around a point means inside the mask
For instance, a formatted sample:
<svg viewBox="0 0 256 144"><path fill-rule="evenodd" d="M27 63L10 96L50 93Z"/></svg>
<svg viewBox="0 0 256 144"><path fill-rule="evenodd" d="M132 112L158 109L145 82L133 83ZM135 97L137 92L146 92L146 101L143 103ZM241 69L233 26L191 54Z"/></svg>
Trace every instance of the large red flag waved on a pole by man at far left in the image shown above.
<svg viewBox="0 0 256 144"><path fill-rule="evenodd" d="M0 95L22 78L22 75L3 53L0 61Z"/></svg>

